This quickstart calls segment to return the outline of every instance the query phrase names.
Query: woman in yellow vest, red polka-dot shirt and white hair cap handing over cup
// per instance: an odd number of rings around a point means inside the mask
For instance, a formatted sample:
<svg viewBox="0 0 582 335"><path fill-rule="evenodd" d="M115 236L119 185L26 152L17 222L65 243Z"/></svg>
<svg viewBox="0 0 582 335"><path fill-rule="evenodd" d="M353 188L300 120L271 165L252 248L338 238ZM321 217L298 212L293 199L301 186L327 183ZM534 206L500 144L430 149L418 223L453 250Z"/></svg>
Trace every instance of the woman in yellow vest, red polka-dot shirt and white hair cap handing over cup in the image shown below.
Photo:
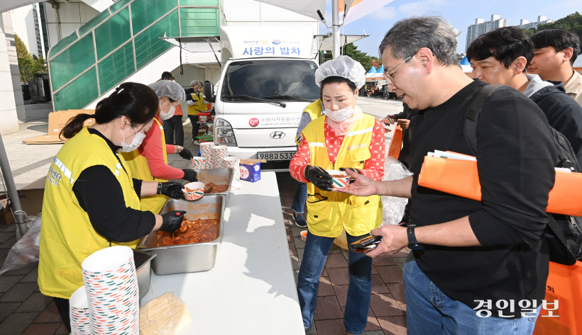
<svg viewBox="0 0 582 335"><path fill-rule="evenodd" d="M340 56L315 72L325 115L302 132L291 176L307 183L307 240L297 279L297 295L305 329L312 326L319 276L334 239L346 230L348 244L368 235L382 222L379 196L356 197L331 191L326 170L357 169L380 181L384 174L384 127L356 106L366 71L360 63ZM348 334L362 334L368 321L372 289L372 259L349 251L350 281L344 312Z"/></svg>

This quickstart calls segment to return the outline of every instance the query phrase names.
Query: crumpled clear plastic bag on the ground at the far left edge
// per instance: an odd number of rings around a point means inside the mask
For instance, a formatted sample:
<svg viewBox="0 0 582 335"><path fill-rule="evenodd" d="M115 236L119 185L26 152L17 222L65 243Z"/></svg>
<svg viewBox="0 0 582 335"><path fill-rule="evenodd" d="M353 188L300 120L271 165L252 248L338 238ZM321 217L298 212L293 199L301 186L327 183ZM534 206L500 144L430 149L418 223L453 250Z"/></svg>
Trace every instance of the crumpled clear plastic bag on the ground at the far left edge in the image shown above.
<svg viewBox="0 0 582 335"><path fill-rule="evenodd" d="M0 269L0 276L4 273L17 268L23 268L38 262L38 252L40 246L40 217L42 212L38 213L33 225L28 232L16 242L8 252L6 261Z"/></svg>

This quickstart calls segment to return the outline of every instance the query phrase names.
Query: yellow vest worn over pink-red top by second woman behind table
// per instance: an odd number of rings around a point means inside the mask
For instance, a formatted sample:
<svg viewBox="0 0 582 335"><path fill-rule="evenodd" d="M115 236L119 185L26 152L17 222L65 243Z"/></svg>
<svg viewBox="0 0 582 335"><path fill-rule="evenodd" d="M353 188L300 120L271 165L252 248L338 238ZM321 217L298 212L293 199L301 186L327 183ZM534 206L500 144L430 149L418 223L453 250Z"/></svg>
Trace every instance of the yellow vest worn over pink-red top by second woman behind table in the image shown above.
<svg viewBox="0 0 582 335"><path fill-rule="evenodd" d="M158 120L158 118L153 118L154 123L152 127L160 127L160 135L162 136L162 150L164 153L164 163L168 164L168 152L165 149L165 135L164 128ZM133 152L122 152L123 158L126 160L133 178L141 179L142 181L158 181L164 182L167 179L156 178L152 176L150 172L150 166L148 165L148 159L142 156L139 149L133 150ZM158 214L164 207L168 197L161 194L149 195L147 197L141 197L140 203L142 210L149 210L154 214Z"/></svg>

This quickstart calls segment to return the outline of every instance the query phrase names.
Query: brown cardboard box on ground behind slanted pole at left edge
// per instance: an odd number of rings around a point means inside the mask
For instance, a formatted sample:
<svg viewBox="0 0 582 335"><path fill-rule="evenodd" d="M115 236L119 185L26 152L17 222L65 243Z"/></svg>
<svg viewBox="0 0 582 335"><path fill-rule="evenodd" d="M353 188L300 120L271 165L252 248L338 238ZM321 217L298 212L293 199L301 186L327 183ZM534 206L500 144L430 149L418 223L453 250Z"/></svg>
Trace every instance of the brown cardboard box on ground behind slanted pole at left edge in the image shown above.
<svg viewBox="0 0 582 335"><path fill-rule="evenodd" d="M27 215L38 215L43 209L45 182L46 177L38 178L17 191L22 210ZM16 222L10 208L6 208L7 203L6 193L2 193L0 195L0 225L11 225Z"/></svg>

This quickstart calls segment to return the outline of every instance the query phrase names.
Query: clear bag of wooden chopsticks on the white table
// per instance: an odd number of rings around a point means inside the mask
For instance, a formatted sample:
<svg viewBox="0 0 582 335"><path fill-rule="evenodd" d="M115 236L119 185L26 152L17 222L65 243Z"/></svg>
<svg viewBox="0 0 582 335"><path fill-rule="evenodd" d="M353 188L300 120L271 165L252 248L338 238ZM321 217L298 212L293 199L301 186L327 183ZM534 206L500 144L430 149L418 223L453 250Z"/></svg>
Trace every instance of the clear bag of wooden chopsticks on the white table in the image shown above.
<svg viewBox="0 0 582 335"><path fill-rule="evenodd" d="M174 335L187 328L192 317L174 293L167 292L139 309L140 335Z"/></svg>

